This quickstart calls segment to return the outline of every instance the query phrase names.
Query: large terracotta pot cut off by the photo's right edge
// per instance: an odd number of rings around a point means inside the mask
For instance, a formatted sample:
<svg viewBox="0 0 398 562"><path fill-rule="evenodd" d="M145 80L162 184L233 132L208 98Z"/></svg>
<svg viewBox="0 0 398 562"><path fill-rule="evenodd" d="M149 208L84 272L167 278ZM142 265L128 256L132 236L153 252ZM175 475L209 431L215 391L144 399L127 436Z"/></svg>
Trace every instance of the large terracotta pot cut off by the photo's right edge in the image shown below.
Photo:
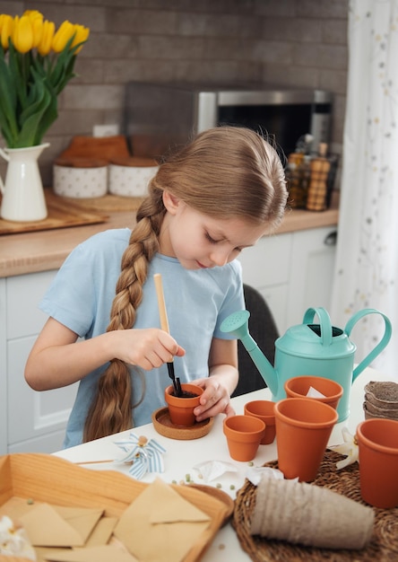
<svg viewBox="0 0 398 562"><path fill-rule="evenodd" d="M360 495L368 504L398 505L398 421L374 417L357 427Z"/></svg>

